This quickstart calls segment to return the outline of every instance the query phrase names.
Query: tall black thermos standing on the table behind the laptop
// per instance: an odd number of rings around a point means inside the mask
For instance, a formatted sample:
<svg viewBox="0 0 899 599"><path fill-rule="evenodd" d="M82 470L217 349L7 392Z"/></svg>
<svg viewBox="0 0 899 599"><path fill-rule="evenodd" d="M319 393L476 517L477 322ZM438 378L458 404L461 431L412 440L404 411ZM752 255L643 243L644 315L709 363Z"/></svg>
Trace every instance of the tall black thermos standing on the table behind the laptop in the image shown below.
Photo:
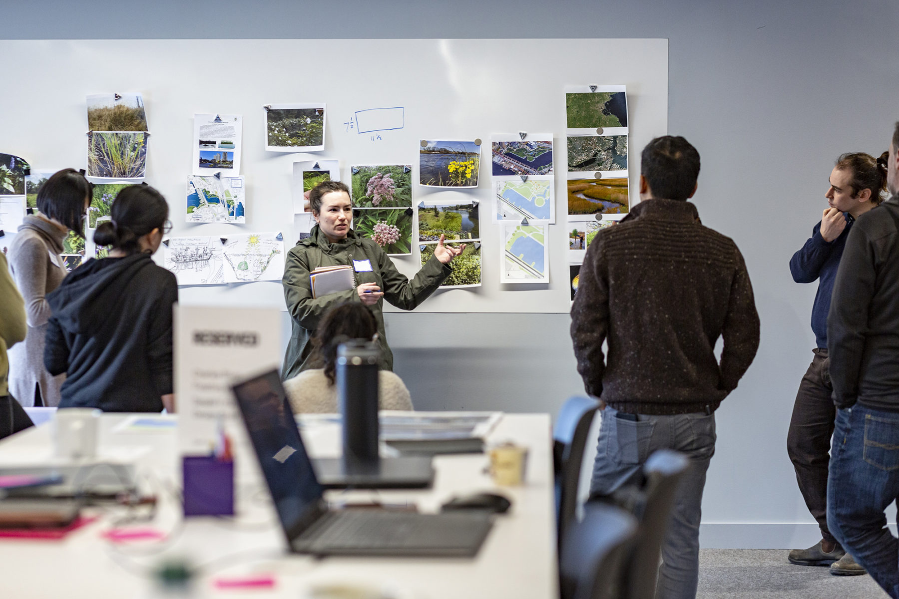
<svg viewBox="0 0 899 599"><path fill-rule="evenodd" d="M375 341L353 339L337 348L337 405L343 415L343 462L378 462L378 357Z"/></svg>

